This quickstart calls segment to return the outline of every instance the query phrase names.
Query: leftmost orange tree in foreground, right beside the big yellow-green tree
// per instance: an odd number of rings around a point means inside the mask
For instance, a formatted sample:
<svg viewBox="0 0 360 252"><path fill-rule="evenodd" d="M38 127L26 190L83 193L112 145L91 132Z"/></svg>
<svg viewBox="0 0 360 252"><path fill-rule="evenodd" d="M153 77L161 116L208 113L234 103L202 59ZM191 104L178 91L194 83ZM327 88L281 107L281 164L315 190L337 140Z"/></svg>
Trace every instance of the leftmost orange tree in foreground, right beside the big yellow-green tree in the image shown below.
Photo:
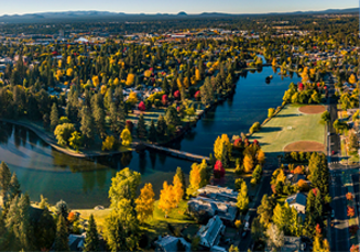
<svg viewBox="0 0 360 252"><path fill-rule="evenodd" d="M150 217L153 216L155 194L151 183L146 183L144 187L140 190L140 196L137 198L135 210L138 213L138 220L140 222L145 222Z"/></svg>

